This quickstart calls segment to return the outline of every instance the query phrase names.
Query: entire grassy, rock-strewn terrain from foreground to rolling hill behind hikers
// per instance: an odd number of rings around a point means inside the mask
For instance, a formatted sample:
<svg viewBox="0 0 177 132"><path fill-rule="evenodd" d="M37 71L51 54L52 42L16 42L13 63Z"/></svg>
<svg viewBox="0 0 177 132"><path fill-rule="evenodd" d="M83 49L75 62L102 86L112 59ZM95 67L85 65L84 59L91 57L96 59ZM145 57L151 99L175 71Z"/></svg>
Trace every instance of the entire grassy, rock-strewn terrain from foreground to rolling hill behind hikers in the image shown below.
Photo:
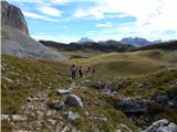
<svg viewBox="0 0 177 132"><path fill-rule="evenodd" d="M159 62L149 55L156 52L165 54ZM84 62L96 74L76 81L70 79L70 63L3 55L2 130L137 132L159 119L176 122L177 70L167 69L174 63L167 63L168 55L164 51L101 55Z"/></svg>

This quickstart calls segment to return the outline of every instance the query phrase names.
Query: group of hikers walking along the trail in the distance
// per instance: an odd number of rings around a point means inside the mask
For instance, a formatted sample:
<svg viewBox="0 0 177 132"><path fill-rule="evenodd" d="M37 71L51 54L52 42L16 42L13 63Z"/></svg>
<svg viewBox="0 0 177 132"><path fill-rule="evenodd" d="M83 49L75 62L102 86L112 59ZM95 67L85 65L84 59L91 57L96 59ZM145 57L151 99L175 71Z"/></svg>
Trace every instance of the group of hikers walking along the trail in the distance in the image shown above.
<svg viewBox="0 0 177 132"><path fill-rule="evenodd" d="M83 78L83 77L87 77L90 75L90 73L95 74L95 69L91 70L91 67L82 68L82 66L76 66L75 64L73 64L71 66L71 78L73 80L75 80L77 73L79 73L79 77Z"/></svg>

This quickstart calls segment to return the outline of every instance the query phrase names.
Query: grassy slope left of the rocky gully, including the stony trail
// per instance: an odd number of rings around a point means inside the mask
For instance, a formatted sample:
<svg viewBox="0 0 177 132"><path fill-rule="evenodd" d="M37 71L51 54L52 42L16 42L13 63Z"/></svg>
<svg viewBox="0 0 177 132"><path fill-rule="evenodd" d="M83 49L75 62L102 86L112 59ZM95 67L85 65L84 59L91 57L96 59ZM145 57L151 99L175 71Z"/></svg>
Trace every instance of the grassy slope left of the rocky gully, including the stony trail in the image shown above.
<svg viewBox="0 0 177 132"><path fill-rule="evenodd" d="M87 86L83 84L86 81L73 84L69 78L69 69L67 64L2 56L2 131L64 131L66 128L71 131L124 130L121 124L133 131L137 130L98 90L85 89ZM73 95L82 98L84 108L50 108L51 105L60 105L64 100L58 94L59 89L72 90ZM79 118L67 119L69 112L73 112L74 117L79 114ZM15 119L14 116L20 118Z"/></svg>

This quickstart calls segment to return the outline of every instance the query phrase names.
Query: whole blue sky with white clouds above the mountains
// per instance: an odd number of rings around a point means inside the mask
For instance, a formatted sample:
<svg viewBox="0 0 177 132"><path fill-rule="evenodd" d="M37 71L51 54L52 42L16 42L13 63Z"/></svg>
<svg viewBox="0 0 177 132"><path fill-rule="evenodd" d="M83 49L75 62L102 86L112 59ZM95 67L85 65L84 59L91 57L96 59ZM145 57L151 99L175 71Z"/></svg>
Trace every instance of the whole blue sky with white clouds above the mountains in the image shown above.
<svg viewBox="0 0 177 132"><path fill-rule="evenodd" d="M177 38L176 0L8 0L18 6L35 40L76 42Z"/></svg>

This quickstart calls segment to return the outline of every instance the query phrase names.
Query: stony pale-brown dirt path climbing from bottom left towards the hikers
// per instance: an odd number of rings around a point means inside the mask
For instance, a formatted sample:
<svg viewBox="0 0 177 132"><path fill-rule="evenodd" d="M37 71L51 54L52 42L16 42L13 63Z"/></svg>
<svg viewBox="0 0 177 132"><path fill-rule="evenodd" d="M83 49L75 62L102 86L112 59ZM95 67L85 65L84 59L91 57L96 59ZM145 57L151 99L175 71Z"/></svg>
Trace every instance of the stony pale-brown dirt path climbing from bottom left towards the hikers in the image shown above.
<svg viewBox="0 0 177 132"><path fill-rule="evenodd" d="M70 89L74 89L73 81ZM24 119L13 120L13 132L66 132L65 121L56 110L48 107L50 89L39 91L33 98L28 97L27 103L21 107L20 117ZM27 118L27 119L25 119Z"/></svg>

